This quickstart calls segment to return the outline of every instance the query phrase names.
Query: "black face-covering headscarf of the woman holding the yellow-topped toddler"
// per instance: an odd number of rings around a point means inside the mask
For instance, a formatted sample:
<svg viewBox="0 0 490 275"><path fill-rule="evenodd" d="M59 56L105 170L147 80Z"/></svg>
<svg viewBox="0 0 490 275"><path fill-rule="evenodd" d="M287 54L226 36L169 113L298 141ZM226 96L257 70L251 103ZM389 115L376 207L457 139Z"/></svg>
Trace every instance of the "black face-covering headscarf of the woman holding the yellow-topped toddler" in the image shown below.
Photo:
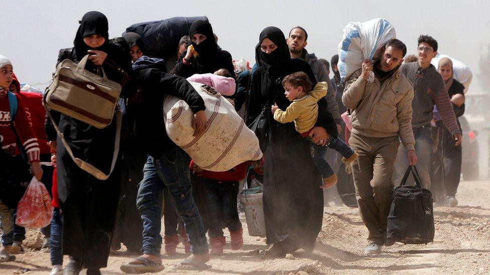
<svg viewBox="0 0 490 275"><path fill-rule="evenodd" d="M277 46L277 49L270 54L266 54L261 50L262 41L269 38ZM284 33L276 27L265 28L259 37L259 44L255 49L255 59L257 64L263 66L268 74L279 74L284 66L291 59L289 48L286 44Z"/></svg>

